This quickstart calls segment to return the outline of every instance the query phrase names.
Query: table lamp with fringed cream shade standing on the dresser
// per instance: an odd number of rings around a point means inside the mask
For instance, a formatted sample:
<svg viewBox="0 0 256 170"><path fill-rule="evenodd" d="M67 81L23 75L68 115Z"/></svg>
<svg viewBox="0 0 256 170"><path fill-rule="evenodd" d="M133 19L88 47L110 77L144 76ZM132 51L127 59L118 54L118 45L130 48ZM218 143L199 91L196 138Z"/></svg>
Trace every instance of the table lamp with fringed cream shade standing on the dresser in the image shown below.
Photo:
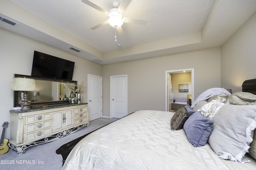
<svg viewBox="0 0 256 170"><path fill-rule="evenodd" d="M20 104L22 110L30 109L30 101L28 101L27 91L36 91L36 81L32 78L18 78L14 77L12 79L12 90L22 91L23 99Z"/></svg>

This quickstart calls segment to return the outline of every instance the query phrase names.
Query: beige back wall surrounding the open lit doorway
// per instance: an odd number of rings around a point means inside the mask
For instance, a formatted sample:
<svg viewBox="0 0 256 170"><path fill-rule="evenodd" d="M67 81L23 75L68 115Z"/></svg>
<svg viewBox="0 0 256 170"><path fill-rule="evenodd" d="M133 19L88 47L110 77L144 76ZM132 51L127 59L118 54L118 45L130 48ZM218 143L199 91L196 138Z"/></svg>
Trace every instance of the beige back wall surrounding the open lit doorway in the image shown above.
<svg viewBox="0 0 256 170"><path fill-rule="evenodd" d="M103 65L103 115L110 116L110 76L128 75L128 113L165 110L165 71L194 68L195 98L220 87L220 48Z"/></svg>

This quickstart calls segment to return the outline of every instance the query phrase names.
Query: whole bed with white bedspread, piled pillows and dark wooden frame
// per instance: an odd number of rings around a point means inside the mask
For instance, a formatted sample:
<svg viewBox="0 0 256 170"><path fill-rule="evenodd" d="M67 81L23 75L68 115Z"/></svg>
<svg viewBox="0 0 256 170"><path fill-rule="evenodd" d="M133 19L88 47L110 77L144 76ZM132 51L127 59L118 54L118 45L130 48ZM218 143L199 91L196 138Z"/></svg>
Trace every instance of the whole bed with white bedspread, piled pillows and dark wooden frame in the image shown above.
<svg viewBox="0 0 256 170"><path fill-rule="evenodd" d="M256 169L256 79L242 91L212 88L176 112L136 111L62 145L62 169Z"/></svg>

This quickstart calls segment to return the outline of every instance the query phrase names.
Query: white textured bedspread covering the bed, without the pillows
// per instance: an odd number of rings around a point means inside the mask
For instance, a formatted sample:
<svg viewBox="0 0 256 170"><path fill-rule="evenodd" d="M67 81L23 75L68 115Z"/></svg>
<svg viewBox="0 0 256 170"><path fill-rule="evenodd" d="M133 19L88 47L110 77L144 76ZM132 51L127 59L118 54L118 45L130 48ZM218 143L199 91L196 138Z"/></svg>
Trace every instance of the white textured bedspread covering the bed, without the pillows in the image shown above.
<svg viewBox="0 0 256 170"><path fill-rule="evenodd" d="M244 164L222 160L208 143L193 147L183 129L172 131L167 111L136 111L82 139L70 152L66 170L252 170Z"/></svg>

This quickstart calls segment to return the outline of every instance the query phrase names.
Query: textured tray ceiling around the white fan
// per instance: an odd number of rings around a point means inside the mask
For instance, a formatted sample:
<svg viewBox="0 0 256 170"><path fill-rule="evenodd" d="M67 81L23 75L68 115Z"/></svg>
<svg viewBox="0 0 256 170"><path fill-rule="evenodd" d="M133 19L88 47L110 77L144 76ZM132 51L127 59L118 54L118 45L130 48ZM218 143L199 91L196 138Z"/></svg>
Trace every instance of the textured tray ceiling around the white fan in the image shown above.
<svg viewBox="0 0 256 170"><path fill-rule="evenodd" d="M6 7L0 7L0 16L19 25L14 28L0 22L0 27L89 60L100 59L103 61L100 64L218 47L256 11L255 0L132 0L123 17L147 20L148 23L124 23L124 36L117 34L115 42L115 29L110 25L90 29L108 20L108 16L81 0L3 1ZM107 11L112 8L112 2L122 3L122 0L91 1ZM16 12L5 11L8 6L17 8ZM24 14L19 14L21 12ZM34 26L26 18L42 20L42 28L37 28L38 25ZM47 23L50 23L50 30L64 31L63 37L43 29L47 28ZM118 47L118 44L122 46ZM70 51L67 47L71 46L82 52Z"/></svg>

